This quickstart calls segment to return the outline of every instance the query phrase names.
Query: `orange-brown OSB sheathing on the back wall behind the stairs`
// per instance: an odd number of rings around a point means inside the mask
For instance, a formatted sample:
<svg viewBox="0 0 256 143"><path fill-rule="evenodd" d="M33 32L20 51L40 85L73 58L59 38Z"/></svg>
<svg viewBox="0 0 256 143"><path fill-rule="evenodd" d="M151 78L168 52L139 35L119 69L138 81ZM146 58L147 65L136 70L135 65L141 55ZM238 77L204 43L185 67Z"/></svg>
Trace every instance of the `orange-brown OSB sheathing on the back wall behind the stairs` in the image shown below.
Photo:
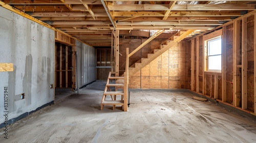
<svg viewBox="0 0 256 143"><path fill-rule="evenodd" d="M127 40L127 41L125 41ZM131 39L119 39L122 44L119 45L119 49L125 49L125 47L130 47L129 42ZM145 39L138 39L133 42L133 46L138 47ZM141 55L136 55L137 57L145 57L147 53L150 53L155 46L158 46L164 40L156 39L152 40L150 43L146 44L141 49ZM178 43L176 46L171 47L168 51L164 52L162 55L153 60L150 64L146 65L138 71L135 75L130 77L129 88L141 88L141 89L180 89L186 88L186 78L188 71L188 61L186 54L188 50L186 49L186 41ZM123 51L123 50L120 50ZM132 50L130 50L131 52ZM138 53L138 52L137 52ZM121 53L124 58L125 53ZM120 55L119 55L120 58ZM187 61L186 61L187 60ZM120 60L119 60L120 61ZM123 60L121 60L123 61ZM119 62L120 64L120 62ZM130 65L132 65L130 59ZM124 70L123 66L119 66L119 70ZM190 76L190 75L189 75Z"/></svg>

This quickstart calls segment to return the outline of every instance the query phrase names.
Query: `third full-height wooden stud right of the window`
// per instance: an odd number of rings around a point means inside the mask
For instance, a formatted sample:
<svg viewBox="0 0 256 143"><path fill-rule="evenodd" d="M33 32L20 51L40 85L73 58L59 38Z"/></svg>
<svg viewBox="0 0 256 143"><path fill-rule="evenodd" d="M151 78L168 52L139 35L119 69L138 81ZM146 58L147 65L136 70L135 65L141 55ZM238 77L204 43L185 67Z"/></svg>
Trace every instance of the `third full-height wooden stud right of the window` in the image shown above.
<svg viewBox="0 0 256 143"><path fill-rule="evenodd" d="M247 109L247 17L242 19L242 109Z"/></svg>

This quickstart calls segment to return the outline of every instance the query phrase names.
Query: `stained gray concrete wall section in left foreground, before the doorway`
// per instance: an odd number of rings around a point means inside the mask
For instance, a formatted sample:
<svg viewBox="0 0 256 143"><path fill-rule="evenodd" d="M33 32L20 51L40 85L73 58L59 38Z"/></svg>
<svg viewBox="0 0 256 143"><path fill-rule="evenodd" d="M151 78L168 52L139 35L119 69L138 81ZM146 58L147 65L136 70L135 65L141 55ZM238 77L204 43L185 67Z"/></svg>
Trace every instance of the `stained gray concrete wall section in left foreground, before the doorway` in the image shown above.
<svg viewBox="0 0 256 143"><path fill-rule="evenodd" d="M8 87L8 120L26 116L54 99L54 31L0 7L0 63L14 71L0 72L0 124L4 87ZM25 93L25 99L20 94Z"/></svg>

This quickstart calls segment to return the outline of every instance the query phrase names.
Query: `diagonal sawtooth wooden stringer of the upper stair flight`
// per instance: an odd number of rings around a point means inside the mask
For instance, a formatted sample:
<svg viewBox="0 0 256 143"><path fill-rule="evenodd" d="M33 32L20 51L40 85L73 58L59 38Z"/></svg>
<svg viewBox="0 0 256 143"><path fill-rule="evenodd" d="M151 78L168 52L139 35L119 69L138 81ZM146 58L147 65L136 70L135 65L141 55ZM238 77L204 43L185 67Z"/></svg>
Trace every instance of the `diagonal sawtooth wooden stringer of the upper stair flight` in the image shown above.
<svg viewBox="0 0 256 143"><path fill-rule="evenodd" d="M150 54L148 58L143 58L140 64L135 64L135 67L129 67L129 77L133 76L135 73L137 73L137 71L139 71L144 66L146 66L147 64L155 60L158 56L162 55L165 51L170 49L170 47L173 47L174 45L179 43L181 40L185 39L189 34L193 33L194 31L195 30L187 30L186 32L182 33L179 37L176 37L174 40L168 42L167 45L164 45L162 49L157 51L155 54Z"/></svg>

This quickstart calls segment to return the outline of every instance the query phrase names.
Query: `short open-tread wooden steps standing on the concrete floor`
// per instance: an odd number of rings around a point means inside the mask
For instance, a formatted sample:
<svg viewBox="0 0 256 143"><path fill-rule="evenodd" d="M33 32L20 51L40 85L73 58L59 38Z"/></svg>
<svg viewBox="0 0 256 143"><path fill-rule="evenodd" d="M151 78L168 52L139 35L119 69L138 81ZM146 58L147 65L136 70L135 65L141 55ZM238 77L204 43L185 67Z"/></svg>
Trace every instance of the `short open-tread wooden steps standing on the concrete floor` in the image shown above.
<svg viewBox="0 0 256 143"><path fill-rule="evenodd" d="M102 100L101 100L101 110L103 110L104 105L112 105L113 110L116 108L116 105L121 105L124 109L124 77L116 77L117 72L110 72L108 80L106 81L105 89L103 92ZM121 83L117 83L117 80L120 80ZM113 83L114 82L114 83ZM115 90L111 91L111 87L115 87ZM120 90L121 89L121 90ZM107 100L106 96L110 96L111 100ZM117 97L120 96L120 97ZM127 105L127 101L126 101ZM127 107L126 107L127 108ZM127 110L127 109L126 109Z"/></svg>

